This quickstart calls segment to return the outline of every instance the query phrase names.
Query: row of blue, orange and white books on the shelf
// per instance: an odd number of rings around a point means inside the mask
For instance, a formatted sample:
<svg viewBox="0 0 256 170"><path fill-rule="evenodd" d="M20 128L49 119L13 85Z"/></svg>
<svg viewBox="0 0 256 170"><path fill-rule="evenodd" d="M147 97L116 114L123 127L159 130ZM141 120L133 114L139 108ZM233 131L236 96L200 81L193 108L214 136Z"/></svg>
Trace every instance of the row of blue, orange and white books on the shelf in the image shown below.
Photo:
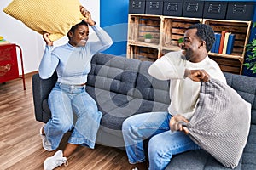
<svg viewBox="0 0 256 170"><path fill-rule="evenodd" d="M229 31L221 31L221 33L215 33L215 42L212 46L211 52L217 54L232 54L235 34Z"/></svg>

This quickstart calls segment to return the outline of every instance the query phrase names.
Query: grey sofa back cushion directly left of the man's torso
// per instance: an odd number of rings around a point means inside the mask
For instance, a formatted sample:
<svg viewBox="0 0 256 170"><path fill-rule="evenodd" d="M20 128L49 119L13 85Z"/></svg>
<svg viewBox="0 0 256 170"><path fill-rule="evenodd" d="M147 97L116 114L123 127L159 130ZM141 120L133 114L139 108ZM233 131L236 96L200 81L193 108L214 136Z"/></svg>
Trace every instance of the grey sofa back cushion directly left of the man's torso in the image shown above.
<svg viewBox="0 0 256 170"><path fill-rule="evenodd" d="M160 81L150 76L148 74L148 68L151 64L152 62L143 61L140 65L137 75L136 90L133 96L169 105L170 81Z"/></svg>

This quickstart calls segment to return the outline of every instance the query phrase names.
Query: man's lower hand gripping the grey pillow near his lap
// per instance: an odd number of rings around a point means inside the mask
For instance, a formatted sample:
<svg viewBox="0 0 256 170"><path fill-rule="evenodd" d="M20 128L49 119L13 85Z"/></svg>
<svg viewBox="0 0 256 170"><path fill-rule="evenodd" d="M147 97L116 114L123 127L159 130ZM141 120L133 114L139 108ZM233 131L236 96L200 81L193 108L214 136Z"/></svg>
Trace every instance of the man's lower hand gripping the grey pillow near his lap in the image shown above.
<svg viewBox="0 0 256 170"><path fill-rule="evenodd" d="M181 115L172 116L172 118L169 122L171 131L172 132L173 131L184 131L184 133L189 134L189 129L187 127L183 127L182 123L180 123L180 122L189 123L189 121Z"/></svg>

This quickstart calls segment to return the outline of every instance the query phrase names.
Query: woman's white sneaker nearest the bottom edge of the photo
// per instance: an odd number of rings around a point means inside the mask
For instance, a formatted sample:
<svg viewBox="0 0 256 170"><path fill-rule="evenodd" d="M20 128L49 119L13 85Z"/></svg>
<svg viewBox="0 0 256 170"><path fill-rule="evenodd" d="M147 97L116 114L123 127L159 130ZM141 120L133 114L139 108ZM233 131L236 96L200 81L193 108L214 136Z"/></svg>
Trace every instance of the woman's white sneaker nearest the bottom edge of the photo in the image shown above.
<svg viewBox="0 0 256 170"><path fill-rule="evenodd" d="M64 166L67 167L67 157L63 157L62 150L58 150L54 156L46 158L44 161L44 170L52 170L55 167L59 167L64 163Z"/></svg>

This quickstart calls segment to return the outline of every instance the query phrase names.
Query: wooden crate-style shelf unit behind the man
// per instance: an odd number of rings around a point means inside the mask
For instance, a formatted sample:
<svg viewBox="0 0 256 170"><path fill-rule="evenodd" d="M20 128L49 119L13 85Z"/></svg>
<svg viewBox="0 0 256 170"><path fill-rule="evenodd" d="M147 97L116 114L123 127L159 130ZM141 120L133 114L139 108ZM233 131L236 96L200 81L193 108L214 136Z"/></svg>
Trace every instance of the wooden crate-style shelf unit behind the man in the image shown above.
<svg viewBox="0 0 256 170"><path fill-rule="evenodd" d="M127 58L154 61L162 55L180 50L177 41L187 28L195 23L212 26L216 33L228 30L236 34L232 54L209 53L223 71L241 74L246 44L252 21L214 20L152 14L129 14ZM144 35L151 33L150 43L144 42ZM148 49L147 49L148 48Z"/></svg>

